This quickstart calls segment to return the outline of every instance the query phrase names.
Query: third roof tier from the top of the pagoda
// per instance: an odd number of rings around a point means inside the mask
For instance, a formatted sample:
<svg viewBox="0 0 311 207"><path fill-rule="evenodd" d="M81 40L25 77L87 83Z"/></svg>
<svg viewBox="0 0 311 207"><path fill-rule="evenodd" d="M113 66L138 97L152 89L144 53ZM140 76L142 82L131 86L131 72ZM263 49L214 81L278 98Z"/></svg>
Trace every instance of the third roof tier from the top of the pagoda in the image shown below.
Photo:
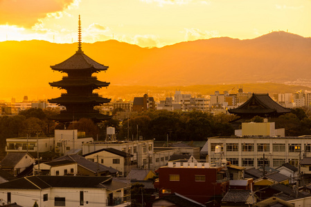
<svg viewBox="0 0 311 207"><path fill-rule="evenodd" d="M83 95L62 95L61 97L55 99L48 99L50 103L59 103L60 105L64 103L108 103L111 99L98 97L98 95L83 96Z"/></svg>

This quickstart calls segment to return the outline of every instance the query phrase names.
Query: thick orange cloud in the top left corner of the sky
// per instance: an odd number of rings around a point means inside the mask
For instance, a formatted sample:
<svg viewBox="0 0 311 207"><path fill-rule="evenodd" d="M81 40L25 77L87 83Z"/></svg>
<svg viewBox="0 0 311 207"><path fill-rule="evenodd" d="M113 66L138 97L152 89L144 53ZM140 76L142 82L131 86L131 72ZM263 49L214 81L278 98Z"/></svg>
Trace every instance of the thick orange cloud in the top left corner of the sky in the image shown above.
<svg viewBox="0 0 311 207"><path fill-rule="evenodd" d="M0 25L31 28L49 13L60 17L76 0L0 0Z"/></svg>

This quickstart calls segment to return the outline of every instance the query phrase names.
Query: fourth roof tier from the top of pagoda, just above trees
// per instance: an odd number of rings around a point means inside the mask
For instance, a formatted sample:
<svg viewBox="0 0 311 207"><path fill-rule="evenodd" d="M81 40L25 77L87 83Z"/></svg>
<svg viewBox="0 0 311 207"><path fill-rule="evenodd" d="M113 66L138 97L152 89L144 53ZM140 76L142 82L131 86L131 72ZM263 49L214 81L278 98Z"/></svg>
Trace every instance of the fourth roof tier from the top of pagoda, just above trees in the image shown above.
<svg viewBox="0 0 311 207"><path fill-rule="evenodd" d="M79 120L82 118L92 119L95 122L104 121L107 119L111 119L111 116L100 114L100 112L67 112L61 111L60 114L51 117L51 119L60 121L60 122L69 122L73 121L73 117L75 120Z"/></svg>

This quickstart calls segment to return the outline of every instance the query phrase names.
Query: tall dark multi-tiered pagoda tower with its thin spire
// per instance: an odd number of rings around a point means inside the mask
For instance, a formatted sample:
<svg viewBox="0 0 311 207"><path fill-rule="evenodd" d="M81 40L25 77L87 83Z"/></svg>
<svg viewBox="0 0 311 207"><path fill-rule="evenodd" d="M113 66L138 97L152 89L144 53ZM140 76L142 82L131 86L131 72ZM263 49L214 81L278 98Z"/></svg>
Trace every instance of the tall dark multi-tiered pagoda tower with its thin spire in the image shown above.
<svg viewBox="0 0 311 207"><path fill-rule="evenodd" d="M65 106L59 115L52 119L60 122L70 122L81 118L92 119L94 122L110 119L107 115L100 114L94 110L94 106L102 103L108 103L111 99L99 97L94 93L94 89L109 86L109 83L99 81L97 77L92 76L94 72L107 70L104 66L89 58L81 49L81 21L79 15L78 21L78 51L69 59L62 63L51 66L52 70L67 73L62 80L49 83L52 87L65 89L60 97L48 99L50 103L57 103L59 106Z"/></svg>

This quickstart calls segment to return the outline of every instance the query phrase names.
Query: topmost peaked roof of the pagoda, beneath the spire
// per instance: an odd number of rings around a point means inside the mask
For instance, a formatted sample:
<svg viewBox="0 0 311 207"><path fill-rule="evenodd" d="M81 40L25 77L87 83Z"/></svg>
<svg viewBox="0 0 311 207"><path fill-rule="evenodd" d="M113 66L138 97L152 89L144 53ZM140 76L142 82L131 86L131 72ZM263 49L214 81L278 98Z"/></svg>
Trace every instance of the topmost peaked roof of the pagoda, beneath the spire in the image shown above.
<svg viewBox="0 0 311 207"><path fill-rule="evenodd" d="M69 57L62 63L51 66L53 70L69 72L70 70L107 70L108 66L104 66L87 55L82 51L75 52L75 55Z"/></svg>

